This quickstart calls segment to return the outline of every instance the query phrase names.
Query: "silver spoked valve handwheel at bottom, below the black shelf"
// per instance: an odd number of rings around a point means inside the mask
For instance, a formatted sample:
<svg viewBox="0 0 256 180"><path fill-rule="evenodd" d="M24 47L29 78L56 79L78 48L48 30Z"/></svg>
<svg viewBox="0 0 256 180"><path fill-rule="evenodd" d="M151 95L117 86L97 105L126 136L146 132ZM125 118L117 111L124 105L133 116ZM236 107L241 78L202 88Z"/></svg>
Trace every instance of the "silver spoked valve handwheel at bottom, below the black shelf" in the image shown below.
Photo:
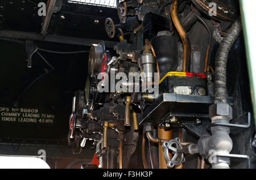
<svg viewBox="0 0 256 180"><path fill-rule="evenodd" d="M179 138L175 138L172 140L168 140L168 142L164 142L163 149L164 149L164 158L166 159L167 166L169 168L173 168L174 166L184 163L185 161L184 154L178 152L178 150L182 149ZM172 158L169 155L169 150L171 150L172 153L174 154Z"/></svg>

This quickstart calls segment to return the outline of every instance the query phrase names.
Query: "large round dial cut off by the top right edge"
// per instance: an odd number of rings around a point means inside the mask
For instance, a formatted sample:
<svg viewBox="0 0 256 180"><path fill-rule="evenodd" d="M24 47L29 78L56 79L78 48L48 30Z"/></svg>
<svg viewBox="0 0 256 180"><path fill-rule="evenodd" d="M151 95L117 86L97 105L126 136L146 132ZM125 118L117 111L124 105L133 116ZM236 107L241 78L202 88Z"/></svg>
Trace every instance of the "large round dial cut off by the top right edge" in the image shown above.
<svg viewBox="0 0 256 180"><path fill-rule="evenodd" d="M199 10L213 18L234 21L238 17L238 10L233 0L192 0Z"/></svg>

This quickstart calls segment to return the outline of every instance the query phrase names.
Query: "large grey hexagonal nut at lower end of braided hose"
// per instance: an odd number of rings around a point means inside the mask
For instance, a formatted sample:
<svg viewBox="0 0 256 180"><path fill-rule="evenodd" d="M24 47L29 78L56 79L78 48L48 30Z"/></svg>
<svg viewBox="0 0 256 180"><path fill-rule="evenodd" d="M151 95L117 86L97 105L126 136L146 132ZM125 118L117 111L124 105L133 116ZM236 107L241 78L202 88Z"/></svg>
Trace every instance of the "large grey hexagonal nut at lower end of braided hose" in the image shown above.
<svg viewBox="0 0 256 180"><path fill-rule="evenodd" d="M210 105L209 107L209 118L212 119L215 116L224 116L229 119L233 118L232 107L226 103L218 103Z"/></svg>

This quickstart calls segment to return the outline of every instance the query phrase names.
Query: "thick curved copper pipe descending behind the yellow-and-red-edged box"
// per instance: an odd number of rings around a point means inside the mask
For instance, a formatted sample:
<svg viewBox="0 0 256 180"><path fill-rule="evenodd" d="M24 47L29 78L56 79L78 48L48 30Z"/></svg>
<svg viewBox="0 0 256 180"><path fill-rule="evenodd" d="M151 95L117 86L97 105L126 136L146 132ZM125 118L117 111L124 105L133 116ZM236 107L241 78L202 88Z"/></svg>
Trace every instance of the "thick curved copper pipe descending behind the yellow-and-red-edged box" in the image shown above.
<svg viewBox="0 0 256 180"><path fill-rule="evenodd" d="M171 6L171 16L172 22L174 22L174 25L183 43L183 72L189 72L191 59L191 44L189 42L187 32L181 25L180 20L177 16L177 9L182 1L183 0L174 0Z"/></svg>

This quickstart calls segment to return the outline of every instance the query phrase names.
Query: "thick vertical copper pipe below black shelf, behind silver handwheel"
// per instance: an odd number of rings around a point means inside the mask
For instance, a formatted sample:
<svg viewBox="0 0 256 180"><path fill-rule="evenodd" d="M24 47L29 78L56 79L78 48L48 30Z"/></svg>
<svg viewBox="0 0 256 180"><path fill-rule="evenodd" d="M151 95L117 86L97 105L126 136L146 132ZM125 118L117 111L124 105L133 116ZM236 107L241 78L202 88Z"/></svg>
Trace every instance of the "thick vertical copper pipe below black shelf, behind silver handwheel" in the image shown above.
<svg viewBox="0 0 256 180"><path fill-rule="evenodd" d="M158 137L159 139L172 139L172 130L164 130L163 126L158 126ZM171 156L171 154L170 154ZM159 143L159 168L167 169L167 162L164 158L163 143Z"/></svg>

